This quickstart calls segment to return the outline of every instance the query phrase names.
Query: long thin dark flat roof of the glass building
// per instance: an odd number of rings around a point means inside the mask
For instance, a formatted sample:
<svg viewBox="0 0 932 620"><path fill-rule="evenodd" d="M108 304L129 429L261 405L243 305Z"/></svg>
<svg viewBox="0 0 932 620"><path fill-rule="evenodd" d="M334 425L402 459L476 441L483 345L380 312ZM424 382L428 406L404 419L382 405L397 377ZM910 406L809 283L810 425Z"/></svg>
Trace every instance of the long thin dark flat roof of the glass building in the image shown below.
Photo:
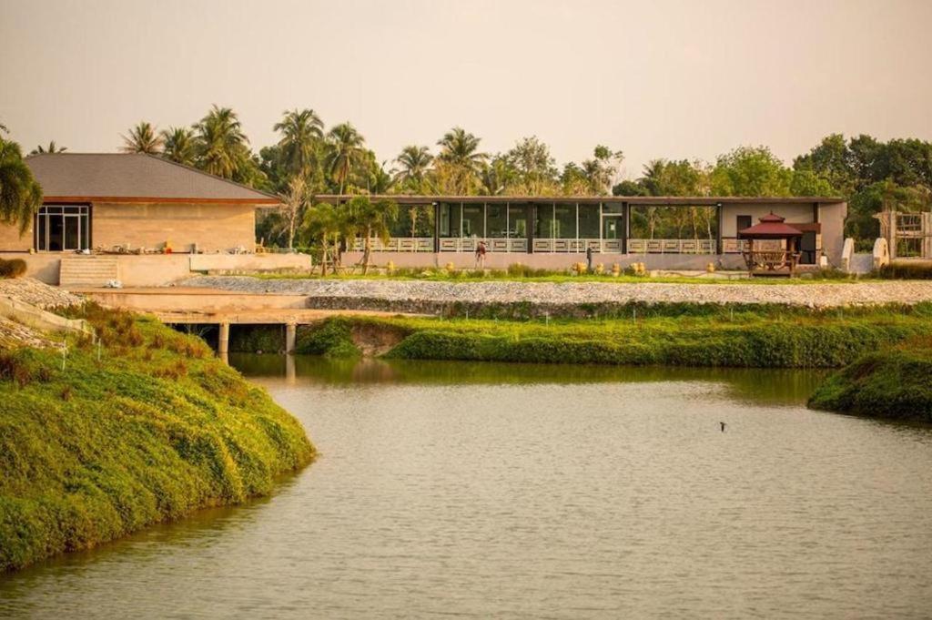
<svg viewBox="0 0 932 620"><path fill-rule="evenodd" d="M335 202L337 198L346 201L352 196L339 196L336 194L319 194L315 200ZM583 204L598 204L599 202L629 202L631 204L683 204L683 205L714 205L722 204L812 204L814 202L837 203L844 202L837 196L412 196L406 194L377 194L369 197L371 200L394 200L405 204L430 204L431 202L580 202Z"/></svg>

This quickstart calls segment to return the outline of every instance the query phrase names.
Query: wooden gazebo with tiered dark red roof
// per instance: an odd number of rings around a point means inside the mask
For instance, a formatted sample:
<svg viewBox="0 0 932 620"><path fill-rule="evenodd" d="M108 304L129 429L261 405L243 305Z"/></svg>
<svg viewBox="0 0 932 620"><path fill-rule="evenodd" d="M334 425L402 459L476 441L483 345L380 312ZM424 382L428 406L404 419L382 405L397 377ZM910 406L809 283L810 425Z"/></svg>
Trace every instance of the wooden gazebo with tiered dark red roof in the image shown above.
<svg viewBox="0 0 932 620"><path fill-rule="evenodd" d="M757 276L789 276L800 261L802 230L785 223L785 217L773 212L761 217L759 224L738 230L747 270Z"/></svg>

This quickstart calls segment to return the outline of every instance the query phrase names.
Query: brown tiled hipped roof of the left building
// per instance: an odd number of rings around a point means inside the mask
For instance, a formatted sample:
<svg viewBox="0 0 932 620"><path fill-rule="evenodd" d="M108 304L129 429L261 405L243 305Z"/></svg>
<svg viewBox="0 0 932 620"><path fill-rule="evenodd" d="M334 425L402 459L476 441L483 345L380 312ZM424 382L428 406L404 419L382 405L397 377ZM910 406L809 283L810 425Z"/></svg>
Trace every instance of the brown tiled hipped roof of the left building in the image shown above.
<svg viewBox="0 0 932 620"><path fill-rule="evenodd" d="M280 202L252 187L144 153L46 153L26 163L46 201Z"/></svg>

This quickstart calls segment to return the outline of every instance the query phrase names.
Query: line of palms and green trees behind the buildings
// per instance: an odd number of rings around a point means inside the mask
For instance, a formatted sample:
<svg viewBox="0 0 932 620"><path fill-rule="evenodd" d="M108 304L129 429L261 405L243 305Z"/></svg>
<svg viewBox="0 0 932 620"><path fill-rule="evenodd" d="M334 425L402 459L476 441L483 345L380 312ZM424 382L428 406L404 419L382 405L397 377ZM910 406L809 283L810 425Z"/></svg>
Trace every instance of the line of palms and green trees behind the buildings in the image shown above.
<svg viewBox="0 0 932 620"><path fill-rule="evenodd" d="M327 128L312 109L282 113L273 126L274 145L255 151L231 108L213 105L189 126L164 130L142 121L122 136L121 150L149 153L253 186L281 197L282 208L265 214L258 236L269 245L292 247L314 196L425 194L488 196L838 196L849 202L846 234L871 240L872 217L884 209L925 210L932 204L932 143L918 139L879 141L831 134L787 166L766 146L740 146L714 162L658 158L635 179L622 180L621 150L596 145L591 158L556 164L536 136L500 153L461 127L435 145L406 145L391 160L379 160L349 122ZM51 143L34 153L61 152ZM7 155L7 157L10 157ZM6 206L4 207L7 208ZM653 208L633 225L645 236L704 236L708 210ZM6 211L4 213L7 213Z"/></svg>

